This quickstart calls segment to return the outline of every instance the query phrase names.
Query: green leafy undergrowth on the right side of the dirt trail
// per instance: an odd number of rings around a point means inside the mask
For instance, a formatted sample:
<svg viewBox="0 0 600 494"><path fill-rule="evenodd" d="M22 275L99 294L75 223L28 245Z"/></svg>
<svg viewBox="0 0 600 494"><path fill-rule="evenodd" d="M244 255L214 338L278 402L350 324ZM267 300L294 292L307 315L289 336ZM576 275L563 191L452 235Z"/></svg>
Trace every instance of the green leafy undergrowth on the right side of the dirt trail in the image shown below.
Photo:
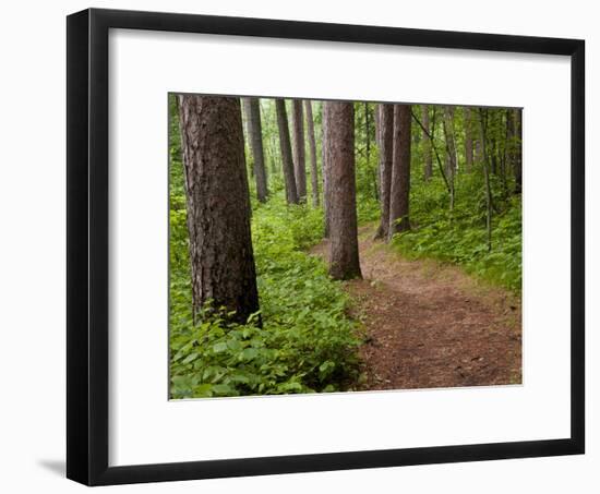
<svg viewBox="0 0 600 494"><path fill-rule="evenodd" d="M410 258L432 257L460 265L492 285L521 290L521 202L492 177L492 248L488 248L482 178L464 174L456 184L454 210L443 182L417 182L410 195L411 230L395 236L392 246Z"/></svg>

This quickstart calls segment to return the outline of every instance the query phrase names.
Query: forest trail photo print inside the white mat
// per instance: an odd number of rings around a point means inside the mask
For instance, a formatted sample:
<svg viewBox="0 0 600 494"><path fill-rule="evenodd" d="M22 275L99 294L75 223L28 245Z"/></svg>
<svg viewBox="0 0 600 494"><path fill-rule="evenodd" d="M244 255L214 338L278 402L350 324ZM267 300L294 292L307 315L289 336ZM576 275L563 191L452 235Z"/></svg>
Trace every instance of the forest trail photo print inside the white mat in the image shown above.
<svg viewBox="0 0 600 494"><path fill-rule="evenodd" d="M168 107L170 399L521 384L523 109Z"/></svg>

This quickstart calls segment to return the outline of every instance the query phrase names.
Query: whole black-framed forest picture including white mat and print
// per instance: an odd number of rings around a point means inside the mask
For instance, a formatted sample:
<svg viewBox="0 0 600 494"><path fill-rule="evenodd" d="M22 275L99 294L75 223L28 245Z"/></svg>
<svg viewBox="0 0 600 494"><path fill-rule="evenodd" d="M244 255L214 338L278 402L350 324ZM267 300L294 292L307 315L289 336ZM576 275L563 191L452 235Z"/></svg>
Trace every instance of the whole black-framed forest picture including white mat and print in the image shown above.
<svg viewBox="0 0 600 494"><path fill-rule="evenodd" d="M68 16L67 475L583 454L585 44Z"/></svg>

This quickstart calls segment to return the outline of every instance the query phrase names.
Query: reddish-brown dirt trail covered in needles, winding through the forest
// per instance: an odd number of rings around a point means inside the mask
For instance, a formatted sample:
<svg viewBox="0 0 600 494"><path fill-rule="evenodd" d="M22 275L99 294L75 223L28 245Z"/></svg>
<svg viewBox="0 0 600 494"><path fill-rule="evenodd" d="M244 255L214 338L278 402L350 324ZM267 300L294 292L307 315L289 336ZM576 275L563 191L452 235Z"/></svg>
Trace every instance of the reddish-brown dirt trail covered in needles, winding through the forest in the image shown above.
<svg viewBox="0 0 600 494"><path fill-rule="evenodd" d="M346 281L363 324L361 389L521 383L520 298L460 267L409 261L359 229L362 279ZM313 254L326 256L324 241Z"/></svg>

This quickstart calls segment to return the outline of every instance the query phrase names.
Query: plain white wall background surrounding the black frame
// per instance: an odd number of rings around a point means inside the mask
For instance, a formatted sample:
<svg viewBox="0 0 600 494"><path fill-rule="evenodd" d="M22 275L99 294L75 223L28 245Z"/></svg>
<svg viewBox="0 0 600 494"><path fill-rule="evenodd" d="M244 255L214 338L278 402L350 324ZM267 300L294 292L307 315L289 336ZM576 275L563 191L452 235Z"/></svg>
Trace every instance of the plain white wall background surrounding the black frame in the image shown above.
<svg viewBox="0 0 600 494"><path fill-rule="evenodd" d="M569 458L505 460L344 472L273 475L129 486L129 492L460 492L595 493L600 489L600 32L595 3L504 0L427 2L346 0L98 1L93 7L394 25L587 40L587 327L588 454ZM85 1L22 1L4 5L0 31L0 486L4 492L69 493L84 487L63 479L64 459L64 103L65 21ZM541 88L542 89L542 88ZM549 95L549 105L552 104ZM550 143L549 143L550 145ZM549 214L552 214L549 212ZM557 231L557 234L561 234ZM565 232L566 234L566 232ZM596 412L597 413L597 412ZM376 420L376 419L374 419ZM117 491L123 487L109 487Z"/></svg>

